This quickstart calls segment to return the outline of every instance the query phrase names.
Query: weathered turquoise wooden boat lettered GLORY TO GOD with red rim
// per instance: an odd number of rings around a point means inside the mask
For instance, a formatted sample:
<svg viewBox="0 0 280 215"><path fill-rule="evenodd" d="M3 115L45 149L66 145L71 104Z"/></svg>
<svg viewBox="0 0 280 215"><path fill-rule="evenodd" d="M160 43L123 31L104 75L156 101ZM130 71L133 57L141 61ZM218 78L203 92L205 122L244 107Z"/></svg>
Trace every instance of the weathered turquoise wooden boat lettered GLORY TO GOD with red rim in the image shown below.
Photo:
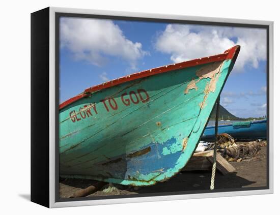
<svg viewBox="0 0 280 215"><path fill-rule="evenodd" d="M90 87L60 105L61 177L148 186L194 152L240 46Z"/></svg>

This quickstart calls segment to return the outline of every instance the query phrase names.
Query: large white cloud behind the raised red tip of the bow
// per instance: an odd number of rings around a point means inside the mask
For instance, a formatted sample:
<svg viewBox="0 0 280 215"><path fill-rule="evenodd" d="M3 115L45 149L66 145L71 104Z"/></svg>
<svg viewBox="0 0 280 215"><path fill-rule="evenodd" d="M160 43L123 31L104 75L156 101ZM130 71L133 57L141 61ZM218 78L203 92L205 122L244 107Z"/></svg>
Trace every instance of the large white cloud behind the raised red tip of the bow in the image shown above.
<svg viewBox="0 0 280 215"><path fill-rule="evenodd" d="M258 68L266 59L264 29L168 24L158 35L155 48L171 54L174 63L214 55L241 45L235 70L242 72L245 64Z"/></svg>

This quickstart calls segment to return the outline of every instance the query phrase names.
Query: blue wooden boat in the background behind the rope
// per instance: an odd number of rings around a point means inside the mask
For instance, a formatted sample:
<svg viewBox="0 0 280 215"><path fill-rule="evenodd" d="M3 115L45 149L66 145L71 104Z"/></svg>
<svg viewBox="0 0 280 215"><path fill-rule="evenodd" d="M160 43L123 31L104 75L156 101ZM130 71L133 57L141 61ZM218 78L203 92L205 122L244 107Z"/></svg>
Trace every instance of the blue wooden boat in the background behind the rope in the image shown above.
<svg viewBox="0 0 280 215"><path fill-rule="evenodd" d="M241 121L231 124L222 124L218 126L218 134L227 133L234 139L239 140L257 140L266 139L266 119L256 121ZM202 140L207 142L215 141L215 126L207 126Z"/></svg>

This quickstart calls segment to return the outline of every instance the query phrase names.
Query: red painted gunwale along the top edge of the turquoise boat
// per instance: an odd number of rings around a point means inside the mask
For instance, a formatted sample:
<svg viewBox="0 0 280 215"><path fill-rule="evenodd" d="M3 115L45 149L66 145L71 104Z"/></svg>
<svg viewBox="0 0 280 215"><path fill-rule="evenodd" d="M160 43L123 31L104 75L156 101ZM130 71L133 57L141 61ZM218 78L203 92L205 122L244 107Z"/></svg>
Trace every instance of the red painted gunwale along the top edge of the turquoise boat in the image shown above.
<svg viewBox="0 0 280 215"><path fill-rule="evenodd" d="M170 71L177 70L177 69L183 69L183 68L198 66L198 65L202 65L202 64L208 64L208 63L212 63L212 62L216 62L216 61L220 61L220 60L233 59L235 62L239 50L240 50L240 46L234 46L234 47L226 50L222 54L188 60L188 61L181 62L178 64L170 64L170 65L166 65L163 67L157 67L157 68L145 70L145 71L138 72L138 73L133 73L133 74L130 74L130 75L127 75L127 76L124 76L121 78L117 78L117 79L114 79L111 81L107 81L105 83L89 87L89 88L85 89L81 94L79 94L71 99L66 100L65 102L63 102L59 105L59 109L62 109L64 107L80 100L81 98L88 97L91 95L91 93L93 93L97 90L116 86L118 84L132 81L135 79L144 78L144 77L161 74L161 73L165 73L165 72L170 72Z"/></svg>

